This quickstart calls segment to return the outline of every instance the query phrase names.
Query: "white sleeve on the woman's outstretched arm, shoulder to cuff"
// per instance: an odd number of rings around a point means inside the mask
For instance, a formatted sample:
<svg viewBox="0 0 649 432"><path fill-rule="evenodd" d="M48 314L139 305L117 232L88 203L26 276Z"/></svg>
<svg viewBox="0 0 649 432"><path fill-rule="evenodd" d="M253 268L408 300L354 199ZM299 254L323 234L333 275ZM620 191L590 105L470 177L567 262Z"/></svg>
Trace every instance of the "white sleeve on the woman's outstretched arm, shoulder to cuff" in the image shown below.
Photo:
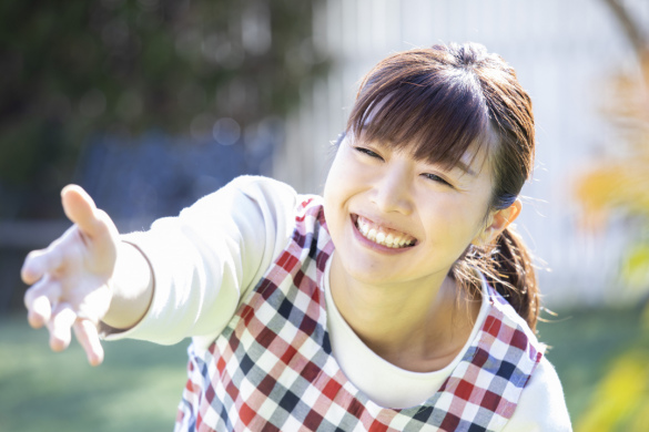
<svg viewBox="0 0 649 432"><path fill-rule="evenodd" d="M151 264L153 299L135 327L107 339L171 344L194 337L206 347L286 246L295 203L290 186L244 176L149 232L125 235Z"/></svg>

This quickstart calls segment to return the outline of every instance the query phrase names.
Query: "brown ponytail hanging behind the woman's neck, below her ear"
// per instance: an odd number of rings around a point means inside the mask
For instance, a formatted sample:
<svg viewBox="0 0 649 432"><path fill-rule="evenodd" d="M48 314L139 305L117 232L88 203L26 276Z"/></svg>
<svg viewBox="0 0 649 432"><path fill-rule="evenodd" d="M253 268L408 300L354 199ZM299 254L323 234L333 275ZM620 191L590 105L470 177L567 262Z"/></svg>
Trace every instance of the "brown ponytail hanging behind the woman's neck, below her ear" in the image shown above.
<svg viewBox="0 0 649 432"><path fill-rule="evenodd" d="M531 254L513 226L507 227L498 236L496 245L489 246L488 249L470 246L454 266L453 276L460 286L473 291L474 297L480 290L475 269L483 272L489 286L498 291L535 331L540 309L539 287Z"/></svg>

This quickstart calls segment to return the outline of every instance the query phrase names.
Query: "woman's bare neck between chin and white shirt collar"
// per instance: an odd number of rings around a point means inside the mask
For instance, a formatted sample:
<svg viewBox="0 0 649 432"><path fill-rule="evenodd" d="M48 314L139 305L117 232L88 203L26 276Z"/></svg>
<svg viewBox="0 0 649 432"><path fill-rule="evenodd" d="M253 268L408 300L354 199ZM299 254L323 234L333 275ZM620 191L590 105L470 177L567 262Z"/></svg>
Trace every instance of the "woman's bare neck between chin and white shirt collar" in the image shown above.
<svg viewBox="0 0 649 432"><path fill-rule="evenodd" d="M480 302L470 301L453 278L367 285L346 275L334 255L331 290L354 332L384 360L406 370L446 367L462 351Z"/></svg>

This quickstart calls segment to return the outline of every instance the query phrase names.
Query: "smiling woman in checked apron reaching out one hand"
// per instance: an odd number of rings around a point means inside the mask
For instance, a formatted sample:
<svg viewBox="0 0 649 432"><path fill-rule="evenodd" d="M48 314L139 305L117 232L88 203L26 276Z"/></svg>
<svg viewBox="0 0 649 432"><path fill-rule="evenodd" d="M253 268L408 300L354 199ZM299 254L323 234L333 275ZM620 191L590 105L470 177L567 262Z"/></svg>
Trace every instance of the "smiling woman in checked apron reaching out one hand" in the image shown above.
<svg viewBox="0 0 649 432"><path fill-rule="evenodd" d="M192 337L176 430L569 431L510 223L531 104L478 44L395 54L363 81L324 194L240 177L120 236L79 187L30 254L29 320L59 350Z"/></svg>

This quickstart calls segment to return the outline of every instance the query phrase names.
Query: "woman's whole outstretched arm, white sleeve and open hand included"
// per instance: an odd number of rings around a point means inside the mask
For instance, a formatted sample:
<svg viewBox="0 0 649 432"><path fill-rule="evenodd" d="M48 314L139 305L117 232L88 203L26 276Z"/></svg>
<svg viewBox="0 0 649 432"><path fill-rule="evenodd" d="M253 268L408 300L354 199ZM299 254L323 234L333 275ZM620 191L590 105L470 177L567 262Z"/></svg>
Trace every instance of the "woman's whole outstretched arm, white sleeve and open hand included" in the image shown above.
<svg viewBox="0 0 649 432"><path fill-rule="evenodd" d="M125 243L85 193L79 187L72 191L70 197L63 192L63 206L75 226L26 260L24 281L38 281L26 295L26 305L32 326L50 328L55 350L69 344L70 327L83 330L77 337L93 364L103 358L95 327L100 320L118 330L110 339L171 344L192 336L209 344L293 230L295 192L267 178L240 177L179 217L159 219L150 232L123 236ZM81 205L85 216L69 212L69 202L85 203ZM95 222L84 224L84 217ZM104 234L94 233L95 225ZM83 267L61 260L89 263ZM73 299L59 298L59 279ZM59 323L61 304L74 308ZM55 311L51 316L50 309Z"/></svg>

